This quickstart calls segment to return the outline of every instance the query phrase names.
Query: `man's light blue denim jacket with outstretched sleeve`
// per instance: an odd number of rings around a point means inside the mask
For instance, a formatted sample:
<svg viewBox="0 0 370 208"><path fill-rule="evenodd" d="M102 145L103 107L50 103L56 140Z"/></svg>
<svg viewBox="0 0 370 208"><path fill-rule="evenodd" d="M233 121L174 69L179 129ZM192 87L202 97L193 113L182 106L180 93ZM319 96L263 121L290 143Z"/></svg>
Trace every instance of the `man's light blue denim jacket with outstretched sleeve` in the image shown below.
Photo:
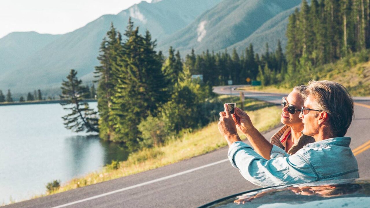
<svg viewBox="0 0 370 208"><path fill-rule="evenodd" d="M350 137L335 137L307 144L293 155L273 145L266 160L244 142L234 142L228 157L243 177L267 187L312 181L359 178Z"/></svg>

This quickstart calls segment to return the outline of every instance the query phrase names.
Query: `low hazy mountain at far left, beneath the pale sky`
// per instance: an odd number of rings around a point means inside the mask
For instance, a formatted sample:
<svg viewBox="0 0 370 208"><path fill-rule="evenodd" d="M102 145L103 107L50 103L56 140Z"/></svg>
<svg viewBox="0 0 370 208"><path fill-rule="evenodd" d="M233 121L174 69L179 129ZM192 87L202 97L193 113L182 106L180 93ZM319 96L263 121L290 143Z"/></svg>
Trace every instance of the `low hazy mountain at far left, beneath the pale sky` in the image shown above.
<svg viewBox="0 0 370 208"><path fill-rule="evenodd" d="M60 35L14 32L0 39L0 74L13 69Z"/></svg>

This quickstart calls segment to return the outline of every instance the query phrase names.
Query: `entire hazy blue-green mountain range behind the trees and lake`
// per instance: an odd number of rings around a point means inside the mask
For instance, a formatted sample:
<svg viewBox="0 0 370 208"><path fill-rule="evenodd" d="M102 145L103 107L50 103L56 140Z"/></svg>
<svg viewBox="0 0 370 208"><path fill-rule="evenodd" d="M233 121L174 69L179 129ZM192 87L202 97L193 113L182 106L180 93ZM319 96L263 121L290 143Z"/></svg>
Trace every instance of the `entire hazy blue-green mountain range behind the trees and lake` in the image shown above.
<svg viewBox="0 0 370 208"><path fill-rule="evenodd" d="M149 30L157 50L170 46L184 57L191 48L243 51L252 43L257 53L266 42L285 47L287 17L301 0L162 0L142 1L118 14L107 14L61 35L15 32L0 39L0 89L27 93L60 87L73 68L85 82L93 80L102 38L111 23L124 32L131 17L140 33Z"/></svg>

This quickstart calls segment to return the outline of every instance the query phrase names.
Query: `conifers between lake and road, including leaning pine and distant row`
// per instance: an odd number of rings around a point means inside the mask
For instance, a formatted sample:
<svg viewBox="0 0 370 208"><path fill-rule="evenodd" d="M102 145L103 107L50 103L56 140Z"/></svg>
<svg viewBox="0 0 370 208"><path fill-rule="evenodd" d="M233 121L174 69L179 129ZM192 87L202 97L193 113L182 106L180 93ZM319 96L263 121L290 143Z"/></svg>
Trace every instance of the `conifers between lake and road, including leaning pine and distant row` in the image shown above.
<svg viewBox="0 0 370 208"><path fill-rule="evenodd" d="M95 119L96 114L88 105L80 105L85 107L64 117L66 127L99 132L102 139L123 142L131 150L159 145L217 119L222 103L212 86L225 85L228 80L247 84L247 77L261 78L262 68L275 74L265 82L276 82L287 65L280 41L274 52L266 44L261 56L250 44L240 55L235 49L231 54L207 50L199 55L192 50L184 60L172 47L166 57L155 47L149 31L139 34L131 19L123 36L111 25L100 46L100 66L95 67L98 123L85 125L83 120ZM62 90L64 99L76 103L85 93L77 87L82 83L74 73L63 82ZM203 80L192 78L194 74L202 74Z"/></svg>

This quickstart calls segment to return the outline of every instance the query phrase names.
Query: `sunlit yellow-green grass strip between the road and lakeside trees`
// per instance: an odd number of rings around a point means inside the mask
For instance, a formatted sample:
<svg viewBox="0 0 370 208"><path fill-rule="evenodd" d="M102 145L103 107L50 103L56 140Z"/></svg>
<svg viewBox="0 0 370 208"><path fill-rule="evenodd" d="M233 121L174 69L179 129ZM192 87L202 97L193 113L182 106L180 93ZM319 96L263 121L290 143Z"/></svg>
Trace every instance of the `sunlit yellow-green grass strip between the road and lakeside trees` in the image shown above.
<svg viewBox="0 0 370 208"><path fill-rule="evenodd" d="M220 99L224 103L235 102L237 106L240 106L238 97L221 95ZM244 103L246 103L244 109L248 112L258 130L267 131L280 123L281 108L250 99L246 99ZM46 195L152 170L224 147L227 143L219 133L217 123L218 121L215 121L202 129L184 133L179 138L174 138L160 147L134 152L129 155L127 161L119 162L119 165L112 163L104 167L101 171L92 172L81 178L75 178ZM244 138L243 136L242 139ZM41 196L44 195L34 198Z"/></svg>

